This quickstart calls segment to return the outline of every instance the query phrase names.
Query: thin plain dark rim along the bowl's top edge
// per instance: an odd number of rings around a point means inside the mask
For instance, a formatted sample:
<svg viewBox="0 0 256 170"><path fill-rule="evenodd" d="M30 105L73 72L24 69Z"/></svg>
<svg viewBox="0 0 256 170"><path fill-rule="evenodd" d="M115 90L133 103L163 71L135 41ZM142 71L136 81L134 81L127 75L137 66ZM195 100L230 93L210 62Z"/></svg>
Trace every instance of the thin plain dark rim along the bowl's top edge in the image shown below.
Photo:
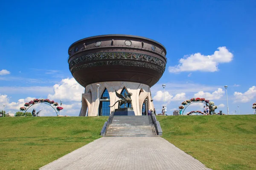
<svg viewBox="0 0 256 170"><path fill-rule="evenodd" d="M142 36L137 36L137 35L128 35L128 34L104 34L104 35L96 35L96 36L92 36L92 37L87 37L87 38L83 38L81 40L78 40L76 42L73 42L73 44L71 44L68 49L70 49L70 47L72 47L74 44L76 44L78 42L81 42L81 41L84 41L84 40L89 40L89 39L94 39L94 38L99 38L99 37L132 37L132 38L140 38L140 39L144 39L144 40L155 42L155 43L161 45L164 48L164 50L166 51L165 46L163 44L161 44L160 42L157 42L157 41L152 40L150 38L146 38L146 37L142 37ZM167 53L167 51L166 51L166 53Z"/></svg>

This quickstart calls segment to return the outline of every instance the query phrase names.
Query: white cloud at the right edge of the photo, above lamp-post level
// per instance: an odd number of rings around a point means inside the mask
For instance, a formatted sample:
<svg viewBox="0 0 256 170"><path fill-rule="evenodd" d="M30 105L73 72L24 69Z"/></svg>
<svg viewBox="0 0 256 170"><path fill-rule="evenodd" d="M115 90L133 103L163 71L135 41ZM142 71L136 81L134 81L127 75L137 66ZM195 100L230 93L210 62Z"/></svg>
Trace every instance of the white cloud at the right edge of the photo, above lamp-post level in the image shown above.
<svg viewBox="0 0 256 170"><path fill-rule="evenodd" d="M250 102L256 96L256 86L252 86L251 88L249 88L249 90L244 92L244 94L241 92L235 91L234 96L235 96L234 102L242 102L242 103Z"/></svg>

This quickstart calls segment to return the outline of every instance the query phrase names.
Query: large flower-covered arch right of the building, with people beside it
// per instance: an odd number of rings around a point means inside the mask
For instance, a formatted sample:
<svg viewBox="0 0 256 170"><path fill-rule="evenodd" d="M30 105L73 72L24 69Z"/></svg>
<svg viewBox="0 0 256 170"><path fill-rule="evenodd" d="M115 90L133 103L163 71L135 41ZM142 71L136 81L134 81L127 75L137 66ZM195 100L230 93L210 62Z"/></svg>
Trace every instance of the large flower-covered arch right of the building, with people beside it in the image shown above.
<svg viewBox="0 0 256 170"><path fill-rule="evenodd" d="M207 105L207 106L209 106L209 113L215 113L215 109L217 109L218 108L218 106L215 106L214 105L214 102L211 102L211 101L209 101L209 100L206 100L206 99L204 99L204 98L192 98L192 99L188 99L188 100L186 100L186 101L184 101L184 102L182 102L181 103L181 106L179 106L179 109L182 111L182 115L183 115L183 113L184 113L184 111L185 111L185 109L189 106L189 105L191 105L191 104L193 104L193 103L198 103L198 102L200 102L200 103L204 103L205 105ZM193 111L192 111L193 112ZM202 113L201 111L194 111L193 113L201 113L201 114L204 114L204 113ZM191 115L191 114L188 114L188 115Z"/></svg>

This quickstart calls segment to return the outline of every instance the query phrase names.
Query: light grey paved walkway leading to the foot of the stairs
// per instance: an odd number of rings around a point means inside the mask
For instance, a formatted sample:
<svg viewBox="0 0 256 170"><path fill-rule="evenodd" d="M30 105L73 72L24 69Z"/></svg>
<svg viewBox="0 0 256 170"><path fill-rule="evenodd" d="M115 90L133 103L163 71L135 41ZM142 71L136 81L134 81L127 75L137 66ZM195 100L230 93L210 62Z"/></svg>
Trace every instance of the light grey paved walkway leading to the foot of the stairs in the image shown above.
<svg viewBox="0 0 256 170"><path fill-rule="evenodd" d="M161 137L102 137L40 170L210 170Z"/></svg>

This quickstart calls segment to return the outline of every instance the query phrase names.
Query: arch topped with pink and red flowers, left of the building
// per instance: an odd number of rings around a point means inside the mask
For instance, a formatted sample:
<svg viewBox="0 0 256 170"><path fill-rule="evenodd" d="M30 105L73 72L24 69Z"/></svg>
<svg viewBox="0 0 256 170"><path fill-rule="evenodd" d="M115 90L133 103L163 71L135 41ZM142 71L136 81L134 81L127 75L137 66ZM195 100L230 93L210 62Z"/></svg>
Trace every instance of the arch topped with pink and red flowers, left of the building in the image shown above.
<svg viewBox="0 0 256 170"><path fill-rule="evenodd" d="M26 113L26 111L33 105L36 105L38 103L44 103L47 104L49 106L51 106L54 111L56 112L57 116L58 116L58 112L61 111L63 108L62 107L58 107L58 103L54 102L53 100L49 100L49 99L33 99L28 103L24 104L24 107L20 108L20 111L25 111L24 114ZM53 105L53 106L52 106Z"/></svg>

